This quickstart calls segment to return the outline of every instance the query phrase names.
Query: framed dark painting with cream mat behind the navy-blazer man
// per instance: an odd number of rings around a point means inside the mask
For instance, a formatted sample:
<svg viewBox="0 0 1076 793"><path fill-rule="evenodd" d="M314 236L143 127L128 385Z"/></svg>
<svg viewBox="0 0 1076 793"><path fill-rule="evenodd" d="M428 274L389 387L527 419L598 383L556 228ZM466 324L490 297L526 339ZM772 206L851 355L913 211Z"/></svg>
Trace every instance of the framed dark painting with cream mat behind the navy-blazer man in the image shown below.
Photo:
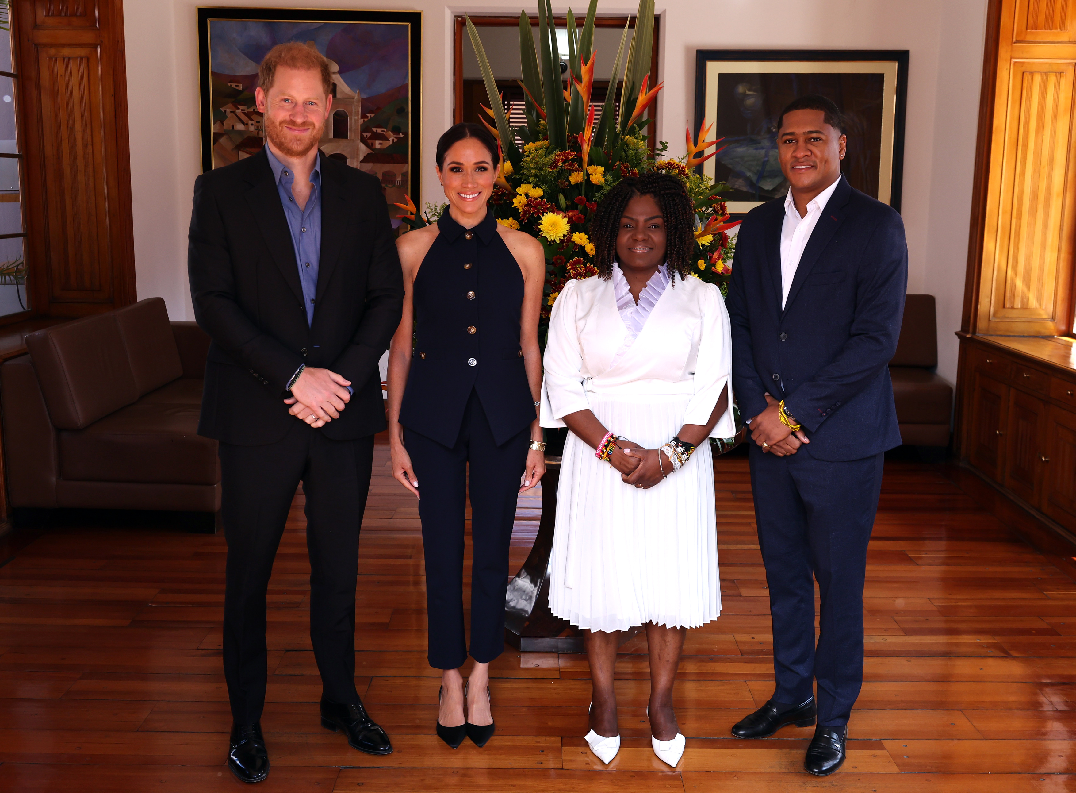
<svg viewBox="0 0 1076 793"><path fill-rule="evenodd" d="M841 171L852 187L901 210L908 51L698 49L695 123L724 138L703 172L733 189L733 214L788 193L777 157L777 119L789 102L820 94L841 110L848 150Z"/></svg>

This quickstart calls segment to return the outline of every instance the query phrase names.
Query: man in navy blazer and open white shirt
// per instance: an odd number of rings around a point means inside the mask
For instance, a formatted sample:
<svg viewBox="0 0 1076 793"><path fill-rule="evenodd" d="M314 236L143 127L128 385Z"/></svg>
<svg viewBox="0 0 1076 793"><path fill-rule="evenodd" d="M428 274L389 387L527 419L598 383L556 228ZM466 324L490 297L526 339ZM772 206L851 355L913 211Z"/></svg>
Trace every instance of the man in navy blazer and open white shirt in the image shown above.
<svg viewBox="0 0 1076 793"><path fill-rule="evenodd" d="M824 776L845 760L863 683L867 542L883 453L901 443L888 365L908 254L901 216L841 175L847 139L832 101L793 101L777 140L789 194L741 224L726 303L733 386L754 441L776 688L733 734L763 738L817 718L804 766Z"/></svg>

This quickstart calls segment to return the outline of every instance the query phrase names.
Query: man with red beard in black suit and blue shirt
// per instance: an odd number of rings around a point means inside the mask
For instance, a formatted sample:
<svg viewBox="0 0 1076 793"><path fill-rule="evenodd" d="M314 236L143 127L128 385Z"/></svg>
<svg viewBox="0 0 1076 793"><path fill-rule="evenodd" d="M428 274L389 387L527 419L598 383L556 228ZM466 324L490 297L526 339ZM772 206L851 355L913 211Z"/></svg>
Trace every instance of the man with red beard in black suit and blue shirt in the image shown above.
<svg viewBox="0 0 1076 793"><path fill-rule="evenodd" d="M392 751L355 689L355 584L373 435L386 426L378 359L404 285L378 180L317 150L330 88L312 47L270 49L255 93L266 146L195 182L190 292L212 338L198 431L220 441L228 767L244 782L269 773L266 593L300 481L322 725Z"/></svg>

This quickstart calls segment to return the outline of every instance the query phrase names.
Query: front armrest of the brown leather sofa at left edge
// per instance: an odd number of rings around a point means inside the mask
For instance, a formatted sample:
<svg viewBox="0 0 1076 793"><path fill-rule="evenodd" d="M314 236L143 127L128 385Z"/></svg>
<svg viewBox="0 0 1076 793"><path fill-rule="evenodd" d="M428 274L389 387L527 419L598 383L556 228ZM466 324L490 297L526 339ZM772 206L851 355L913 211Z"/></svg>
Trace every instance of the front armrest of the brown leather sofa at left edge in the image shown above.
<svg viewBox="0 0 1076 793"><path fill-rule="evenodd" d="M0 366L3 456L12 507L55 508L59 452L56 428L29 355Z"/></svg>

